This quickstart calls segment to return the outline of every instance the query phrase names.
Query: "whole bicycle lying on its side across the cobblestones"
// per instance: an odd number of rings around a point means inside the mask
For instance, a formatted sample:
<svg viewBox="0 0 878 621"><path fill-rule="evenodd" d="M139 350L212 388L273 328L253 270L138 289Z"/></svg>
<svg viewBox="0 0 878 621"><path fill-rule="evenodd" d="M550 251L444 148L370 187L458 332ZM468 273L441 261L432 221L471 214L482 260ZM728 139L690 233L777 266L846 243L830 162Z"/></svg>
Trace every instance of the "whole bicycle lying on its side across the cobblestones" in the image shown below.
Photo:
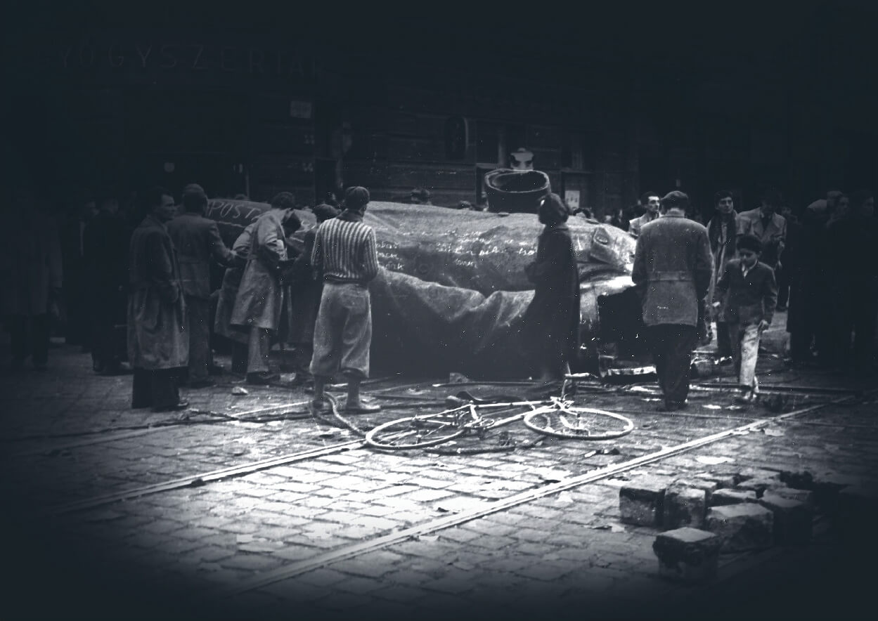
<svg viewBox="0 0 878 621"><path fill-rule="evenodd" d="M509 425L517 420L531 431L562 439L607 440L621 438L634 429L634 423L621 414L606 410L574 406L566 396L569 381L576 375L566 375L561 384L561 395L550 396L541 401L508 401L494 403L469 397L467 403L459 397L450 397L455 407L434 414L415 414L392 420L366 432L365 440L374 448L404 451L427 448L451 442L465 435L474 434L484 439L489 430ZM487 418L484 413L508 411L521 408L506 418ZM620 422L622 423L620 428Z"/></svg>

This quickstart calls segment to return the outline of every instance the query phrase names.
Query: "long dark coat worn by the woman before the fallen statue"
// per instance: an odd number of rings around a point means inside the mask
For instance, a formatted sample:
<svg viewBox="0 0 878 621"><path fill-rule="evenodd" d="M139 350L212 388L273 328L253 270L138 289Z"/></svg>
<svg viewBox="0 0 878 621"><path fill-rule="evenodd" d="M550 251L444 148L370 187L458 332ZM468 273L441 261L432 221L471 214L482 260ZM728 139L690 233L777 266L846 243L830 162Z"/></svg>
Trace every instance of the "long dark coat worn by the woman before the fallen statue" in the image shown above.
<svg viewBox="0 0 878 621"><path fill-rule="evenodd" d="M546 226L536 262L526 272L534 298L525 311L531 346L550 357L576 360L579 352L579 270L567 225Z"/></svg>

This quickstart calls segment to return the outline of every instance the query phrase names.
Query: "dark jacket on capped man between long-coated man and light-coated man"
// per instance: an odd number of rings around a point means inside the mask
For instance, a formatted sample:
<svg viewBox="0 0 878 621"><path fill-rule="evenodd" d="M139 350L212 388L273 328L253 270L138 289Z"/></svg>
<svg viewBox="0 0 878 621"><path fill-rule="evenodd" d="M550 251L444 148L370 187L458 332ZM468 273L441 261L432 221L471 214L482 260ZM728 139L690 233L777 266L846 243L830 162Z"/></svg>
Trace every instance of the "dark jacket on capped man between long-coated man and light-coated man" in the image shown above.
<svg viewBox="0 0 878 621"><path fill-rule="evenodd" d="M184 294L206 300L212 292L211 259L220 265L232 260L217 223L197 213L184 213L168 223L168 233L174 240Z"/></svg>

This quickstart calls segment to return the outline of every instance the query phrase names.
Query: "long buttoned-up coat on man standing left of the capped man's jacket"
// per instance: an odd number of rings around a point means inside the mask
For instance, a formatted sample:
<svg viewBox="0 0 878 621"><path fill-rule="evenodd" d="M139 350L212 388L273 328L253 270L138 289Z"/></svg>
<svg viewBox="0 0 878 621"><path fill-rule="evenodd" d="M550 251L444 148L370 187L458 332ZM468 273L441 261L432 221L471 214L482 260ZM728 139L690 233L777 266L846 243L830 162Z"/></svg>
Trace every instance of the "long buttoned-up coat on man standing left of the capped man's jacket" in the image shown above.
<svg viewBox="0 0 878 621"><path fill-rule="evenodd" d="M180 270L168 229L152 215L131 238L128 360L155 370L189 364L189 332Z"/></svg>

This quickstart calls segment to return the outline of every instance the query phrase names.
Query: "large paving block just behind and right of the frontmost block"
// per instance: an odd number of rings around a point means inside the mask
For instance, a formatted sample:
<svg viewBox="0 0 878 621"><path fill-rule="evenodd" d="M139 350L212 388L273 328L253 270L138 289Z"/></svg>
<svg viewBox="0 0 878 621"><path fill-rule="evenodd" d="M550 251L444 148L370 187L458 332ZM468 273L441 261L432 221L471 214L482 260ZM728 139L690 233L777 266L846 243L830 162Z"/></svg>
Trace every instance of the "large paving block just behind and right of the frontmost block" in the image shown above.
<svg viewBox="0 0 878 621"><path fill-rule="evenodd" d="M759 550L774 543L774 513L756 503L709 509L705 528L719 535L723 552Z"/></svg>

